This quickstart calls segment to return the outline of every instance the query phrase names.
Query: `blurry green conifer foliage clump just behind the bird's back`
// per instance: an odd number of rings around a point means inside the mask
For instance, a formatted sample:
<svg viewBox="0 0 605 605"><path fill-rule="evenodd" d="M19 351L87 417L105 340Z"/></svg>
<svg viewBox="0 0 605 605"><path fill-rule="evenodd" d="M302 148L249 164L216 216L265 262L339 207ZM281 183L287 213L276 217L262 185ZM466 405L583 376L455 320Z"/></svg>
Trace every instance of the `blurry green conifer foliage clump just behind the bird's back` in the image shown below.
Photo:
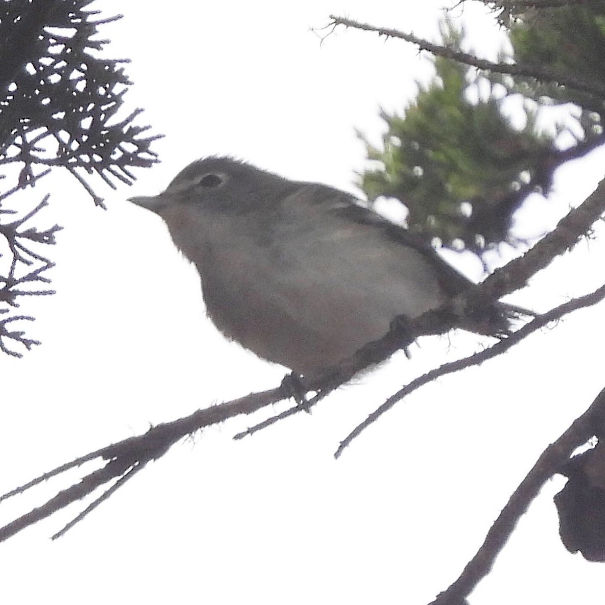
<svg viewBox="0 0 605 605"><path fill-rule="evenodd" d="M445 46L460 47L462 33L450 23L442 35ZM370 201L381 195L401 200L408 227L427 240L439 237L454 249L463 242L480 253L511 241L511 215L526 183L548 190L553 140L538 133L528 110L523 128L511 125L502 113L509 91L497 86L501 79L483 77L489 94L471 100L474 68L443 57L434 64L436 78L419 87L405 116L382 112L388 126L382 149L365 141L368 159L381 167L365 171L361 186Z"/></svg>

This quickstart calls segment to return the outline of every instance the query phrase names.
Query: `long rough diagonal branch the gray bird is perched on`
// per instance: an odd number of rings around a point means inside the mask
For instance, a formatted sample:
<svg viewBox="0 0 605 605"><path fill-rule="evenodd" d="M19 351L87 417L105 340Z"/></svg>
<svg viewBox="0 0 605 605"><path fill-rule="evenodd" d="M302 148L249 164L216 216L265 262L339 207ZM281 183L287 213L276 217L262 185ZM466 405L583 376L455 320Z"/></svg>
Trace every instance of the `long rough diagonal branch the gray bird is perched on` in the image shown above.
<svg viewBox="0 0 605 605"><path fill-rule="evenodd" d="M316 391L317 395L304 405L295 408L292 411L287 411L282 415L295 413L299 409L309 409L319 399L322 399L335 388L344 384L358 371L369 367L370 365L384 361L394 352L401 348L405 348L411 344L418 336L424 334L445 333L450 330L459 321L460 315L464 315L466 309L481 308L486 300L498 299L514 290L523 287L529 277L540 269L546 267L552 259L558 254L571 249L577 243L581 235L589 232L592 224L605 211L605 181L601 181L597 189L579 206L573 209L562 218L556 229L546 235L541 241L525 253L523 257L517 258L502 269L497 270L490 275L483 283L469 288L466 292L457 296L450 304L443 306L441 309L433 310L420 316L413 321L399 322L391 329L387 335L380 341L370 343L362 347L355 355L349 359L345 359L340 364L333 368L319 372L316 376L304 377L301 379L302 386L308 391ZM595 296L595 294L593 295ZM581 299L580 299L581 300ZM579 304L579 303L578 303ZM594 303L591 303L594 304ZM573 310L574 301L567 303L566 306L561 306L563 309ZM558 308L561 312L561 308ZM555 310L553 311L555 312ZM543 321L551 321L553 316L546 314ZM537 318L538 321L540 318ZM534 320L536 321L536 320ZM529 324L532 325L532 324ZM537 325L537 324L533 324ZM519 330L521 335L517 339L522 338L523 334L532 332L531 327L523 332ZM514 335L511 338L515 338ZM514 341L511 341L514 342ZM505 347L506 345L502 345ZM91 460L103 458L111 460L106 465L105 474L100 472L86 478L86 481L94 484L94 488L102 485L109 479L125 476L127 480L129 475L126 471L134 468L135 465L144 465L151 459L157 459L162 456L168 449L174 445L183 436L193 433L200 428L222 422L229 417L238 414L249 414L259 410L266 405L273 404L281 399L289 397L290 393L284 388L274 388L263 393L253 393L247 397L237 399L226 404L221 404L206 410L198 410L191 416L175 420L168 424L158 425L152 428L148 433L140 437L131 437L115 445L110 445L103 450L98 450L96 453L88 454L87 456L76 459L68 465L63 465L49 474L45 474L33 482L27 483L10 492L10 495L21 493L32 485L41 482L48 476L62 472L63 469L71 468L82 463L83 460ZM102 477L102 483L95 483L97 477ZM124 482L120 482L123 485ZM61 494L58 494L55 499L49 501L47 505L39 509L34 509L24 517L10 523L4 529L0 530L0 540L4 540L10 535L23 529L25 526L35 523L41 518L47 517L59 508L67 505L74 500L80 499L92 491L84 489L80 483L76 486L68 488ZM6 497L8 497L7 494ZM0 499L1 500L1 499ZM94 507L93 507L94 508Z"/></svg>

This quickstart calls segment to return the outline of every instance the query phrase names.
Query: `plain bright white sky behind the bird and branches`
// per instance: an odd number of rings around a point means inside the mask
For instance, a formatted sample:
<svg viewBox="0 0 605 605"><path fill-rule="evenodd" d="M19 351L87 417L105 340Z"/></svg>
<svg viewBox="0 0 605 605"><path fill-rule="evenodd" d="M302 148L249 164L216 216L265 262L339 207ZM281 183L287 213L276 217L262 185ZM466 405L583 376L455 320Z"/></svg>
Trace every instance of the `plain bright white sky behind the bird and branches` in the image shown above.
<svg viewBox="0 0 605 605"><path fill-rule="evenodd" d="M166 134L155 145L162 164L137 171L130 189L96 183L108 212L64 174L36 189L52 194L39 224L65 230L48 250L57 295L21 307L38 317L27 330L43 345L0 360L10 377L0 492L149 423L278 384L282 368L218 335L162 221L125 198L159 192L191 160L217 153L355 192L364 149L354 129L378 141L379 107L401 110L430 71L402 42L341 29L320 45L309 28L335 12L434 37L438 16L433 2L392 0L132 7L92 5L103 16L127 11L102 37L113 41L108 56L132 59L126 99L145 107L139 123ZM490 22L469 8L464 16L474 47L493 47ZM552 226L594 189L604 159L597 152L562 169L553 201L536 203L520 229ZM514 300L545 310L589 292L603 252L602 240L580 244ZM59 541L48 537L81 503L2 545L2 595L11 604L427 603L603 387L602 314L603 306L575 313L508 355L417 391L338 462L339 441L397 386L485 343L465 333L423 339L411 362L397 356L311 415L241 442L231 437L267 412L204 431ZM4 522L65 484L3 503ZM558 540L560 486L546 486L471 603L581 603L601 590L603 567Z"/></svg>

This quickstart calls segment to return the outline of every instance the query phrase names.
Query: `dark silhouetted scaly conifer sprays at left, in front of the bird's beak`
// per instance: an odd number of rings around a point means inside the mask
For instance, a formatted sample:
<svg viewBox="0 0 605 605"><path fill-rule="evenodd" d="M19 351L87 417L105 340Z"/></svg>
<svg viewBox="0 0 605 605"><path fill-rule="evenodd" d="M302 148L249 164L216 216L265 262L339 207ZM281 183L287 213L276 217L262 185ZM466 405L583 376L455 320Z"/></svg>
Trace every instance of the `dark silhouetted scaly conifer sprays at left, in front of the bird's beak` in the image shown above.
<svg viewBox="0 0 605 605"><path fill-rule="evenodd" d="M11 0L0 7L0 167L15 180L0 192L0 234L6 240L0 253L8 260L0 269L0 350L11 356L22 353L8 342L28 350L39 344L22 330L10 329L33 317L10 313L19 297L54 293L31 286L50 283L47 272L53 263L38 248L54 244L60 227L33 224L48 195L16 221L6 220L14 214L8 198L33 187L49 169L65 168L104 207L88 175L98 175L115 189L115 180L132 183L129 168L157 161L151 143L158 136L142 136L149 127L134 123L142 110L116 121L130 85L123 68L128 61L103 59L108 41L96 36L101 25L120 17L96 19L99 11L85 10L90 2ZM16 174L12 166L18 167Z"/></svg>

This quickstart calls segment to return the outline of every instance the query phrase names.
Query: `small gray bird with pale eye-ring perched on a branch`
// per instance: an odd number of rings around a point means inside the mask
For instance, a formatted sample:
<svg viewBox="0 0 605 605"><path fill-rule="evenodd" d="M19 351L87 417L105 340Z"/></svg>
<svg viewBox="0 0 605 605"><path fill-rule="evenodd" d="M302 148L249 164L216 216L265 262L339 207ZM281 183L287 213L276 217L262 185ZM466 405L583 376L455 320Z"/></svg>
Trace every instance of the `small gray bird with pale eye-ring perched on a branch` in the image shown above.
<svg viewBox="0 0 605 605"><path fill-rule="evenodd" d="M200 273L208 315L229 339L299 374L329 367L471 286L431 246L319 183L290 181L227 157L129 201L163 218ZM502 335L495 302L466 330Z"/></svg>

